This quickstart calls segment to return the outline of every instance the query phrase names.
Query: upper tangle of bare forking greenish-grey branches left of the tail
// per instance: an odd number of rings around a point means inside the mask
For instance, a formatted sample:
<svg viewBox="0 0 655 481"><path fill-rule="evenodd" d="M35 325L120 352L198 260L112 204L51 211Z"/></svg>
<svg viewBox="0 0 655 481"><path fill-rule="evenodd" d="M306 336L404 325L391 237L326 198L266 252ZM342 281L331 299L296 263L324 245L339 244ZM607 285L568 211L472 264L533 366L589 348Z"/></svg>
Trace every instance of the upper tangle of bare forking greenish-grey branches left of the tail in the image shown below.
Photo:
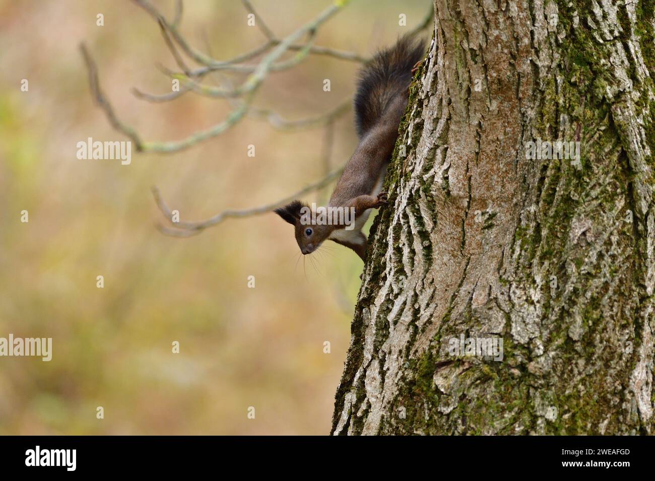
<svg viewBox="0 0 655 481"><path fill-rule="evenodd" d="M191 48L191 46L189 46L189 44L185 41L183 36L178 31L178 26L179 26L179 22L181 21L181 14L183 9L181 0L178 0L178 2L176 3L175 20L172 24L166 22L164 16L162 16L159 10L153 7L153 5L149 3L149 1L147 0L133 0L133 1L134 3L145 9L149 14L151 14L151 16L153 16L153 18L157 20L161 28L162 35L164 36L164 41L166 42L166 45L168 46L170 52L174 56L174 59L176 60L178 67L183 71L183 73L173 73L168 69L164 69L164 72L167 75L182 80L182 85L179 92L170 92L164 95L156 96L152 94L146 94L144 92L141 92L140 90L134 89L133 93L135 96L152 102L162 102L162 101L169 101L172 99L179 98L179 96L183 95L185 92L188 92L189 90L193 90L194 92L197 92L204 96L228 98L228 99L241 97L243 99L240 103L238 103L238 106L230 113L230 115L225 120L223 120L223 122L220 122L219 124L215 124L214 126L206 130L195 132L189 137L179 141L143 142L141 141L140 136L137 134L137 132L132 127L123 124L115 114L111 103L109 103L109 100L106 98L106 96L103 94L102 90L100 89L100 84L98 80L98 69L96 67L96 64L92 59L92 57L90 56L88 50L86 49L86 46L81 45L80 49L83 54L86 67L88 69L89 83L91 86L91 91L94 96L94 99L96 100L96 103L98 103L98 105L105 112L105 116L107 116L107 119L109 120L111 126L113 126L113 128L118 132L121 132L122 134L132 139L132 141L134 141L136 145L136 150L140 152L164 152L164 153L178 152L183 149L192 147L193 145L196 145L201 141L222 134L223 132L231 128L234 124L236 124L236 122L244 118L244 116L250 111L255 92L257 91L261 83L265 80L265 78L270 72L291 68L297 65L298 63L302 62L311 53L330 55L330 56L335 56L336 58L341 58L343 60L354 60L356 62L365 62L367 60L365 58L362 58L361 56L358 56L357 54L352 54L351 52L343 52L341 50L334 50L331 48L319 47L313 45L314 39L316 38L316 32L318 27L320 27L324 22L326 22L329 18L331 18L331 16L333 16L339 10L341 10L347 3L345 1L338 1L335 4L331 5L312 22L305 24L305 26L300 27L299 29L291 33L291 35L288 35L288 37L282 40L275 39L274 36L272 35L272 31L268 29L268 27L265 26L266 24L263 24L261 18L259 18L260 28L263 25L265 30L270 34L269 36L265 33L265 35L267 35L267 38L269 38L269 41L267 41L265 45L257 47L254 50L251 50L250 52L246 52L246 54L242 54L241 56L233 58L228 62L218 62L217 60L214 60L213 58L206 56L205 54L202 54L202 52L199 52L198 50ZM252 4L250 3L249 0L244 0L244 5L246 6L246 9L249 9L249 11L252 10L252 12L254 12ZM421 29L424 29L430 23L430 20L432 20L432 16L433 16L433 10L430 9L430 12L426 16L425 20L422 22L421 25L415 27L414 31L419 31ZM297 41L305 35L309 36L309 40L307 41L307 43L305 43L304 45L297 44ZM183 59L181 58L178 49L174 45L174 41L179 45L179 47L183 50L183 52L187 54L187 56L195 60L197 63L204 65L204 67L200 67L195 70L189 69L185 64L185 62L183 61ZM292 51L292 50L297 52L294 56L292 56L287 60L279 61L280 57L284 55L285 52ZM257 63L256 65L242 64L242 62L244 62L245 60L249 60L250 58L254 58L255 56L259 56L260 54L265 54L265 56L261 60L261 62ZM217 71L221 69L250 73L250 75L248 76L248 78L243 84L237 86L236 88L229 88L229 89L215 88L212 86L207 86L205 84L200 84L196 81L198 79L202 79L202 77L206 75L206 73L210 73L212 71ZM310 128L312 126L325 125L331 120L333 120L333 118L335 118L336 116L344 113L346 111L346 108L347 107L339 106L337 107L337 109L335 109L335 111L328 112L324 115L320 115L314 118L298 120L295 122L284 120L283 118L281 118L279 115L277 115L272 111L259 110L259 111L255 111L254 115L267 118L267 120L269 120L269 122L271 122L271 124L275 128L279 128L281 130L297 130L299 128Z"/></svg>

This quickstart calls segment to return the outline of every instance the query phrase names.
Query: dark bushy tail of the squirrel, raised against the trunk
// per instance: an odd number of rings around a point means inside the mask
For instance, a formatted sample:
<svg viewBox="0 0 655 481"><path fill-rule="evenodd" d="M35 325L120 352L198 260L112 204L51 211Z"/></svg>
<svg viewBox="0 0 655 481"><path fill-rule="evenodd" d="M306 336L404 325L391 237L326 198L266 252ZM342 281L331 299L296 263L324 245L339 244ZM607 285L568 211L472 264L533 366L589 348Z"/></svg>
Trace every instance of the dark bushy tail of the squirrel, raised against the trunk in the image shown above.
<svg viewBox="0 0 655 481"><path fill-rule="evenodd" d="M384 115L391 99L407 97L411 69L423 58L425 45L412 35L404 35L396 45L381 50L360 71L355 95L357 132L362 137Z"/></svg>

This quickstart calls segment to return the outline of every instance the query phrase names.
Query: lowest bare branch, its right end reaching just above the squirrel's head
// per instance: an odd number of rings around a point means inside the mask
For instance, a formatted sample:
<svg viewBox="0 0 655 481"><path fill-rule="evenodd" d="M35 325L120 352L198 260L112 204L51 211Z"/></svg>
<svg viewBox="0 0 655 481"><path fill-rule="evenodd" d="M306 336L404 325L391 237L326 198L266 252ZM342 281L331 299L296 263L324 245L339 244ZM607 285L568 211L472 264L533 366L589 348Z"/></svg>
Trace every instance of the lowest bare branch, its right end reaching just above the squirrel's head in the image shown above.
<svg viewBox="0 0 655 481"><path fill-rule="evenodd" d="M240 219L242 217L252 217L253 215L265 214L267 212L272 211L276 207L280 207L280 205L284 205L287 204L288 202L291 202L291 200L297 197L308 194L309 192L313 192L314 190L318 190L320 188L326 187L327 185L329 185L329 183L331 183L331 181L337 179L337 177L341 175L342 171L343 171L343 166L341 166L339 169L331 171L329 174L326 175L326 177L320 179L320 181L316 181L315 183L312 183L307 187L301 188L301 190L298 190L297 192L291 194L290 196L286 196L285 198L280 199L276 202L271 202L270 204L261 205L259 207L253 207L252 209L226 210L214 215L213 217L210 217L209 219L205 219L204 221L196 221L196 222L179 221L179 223L174 223L172 220L173 219L172 211L168 208L166 202L164 202L159 192L159 188L155 186L153 187L153 196L155 197L155 202L157 203L157 206L159 207L159 210L162 212L164 217L166 217L169 223L175 227L174 229L171 229L171 228L166 228L165 226L161 226L160 230L167 235L173 235L178 237L189 237L189 236L194 236L195 234L200 234L200 232L202 232L206 228L215 226L216 224L225 221L225 219L229 219L229 218Z"/></svg>

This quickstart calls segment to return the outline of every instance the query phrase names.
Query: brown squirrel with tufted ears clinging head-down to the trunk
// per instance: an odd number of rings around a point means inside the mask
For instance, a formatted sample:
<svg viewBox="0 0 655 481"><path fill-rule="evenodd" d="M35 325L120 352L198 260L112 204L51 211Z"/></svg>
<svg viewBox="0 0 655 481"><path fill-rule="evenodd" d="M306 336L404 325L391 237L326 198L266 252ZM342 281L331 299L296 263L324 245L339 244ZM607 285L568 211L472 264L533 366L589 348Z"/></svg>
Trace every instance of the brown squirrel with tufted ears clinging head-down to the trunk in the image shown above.
<svg viewBox="0 0 655 481"><path fill-rule="evenodd" d="M304 255L331 240L366 262L367 239L362 227L371 213L386 204L381 192L386 166L396 145L398 126L407 106L413 67L424 54L421 41L409 35L381 50L360 71L354 98L360 138L346 163L327 207L309 207L294 200L275 209L295 228L295 240Z"/></svg>

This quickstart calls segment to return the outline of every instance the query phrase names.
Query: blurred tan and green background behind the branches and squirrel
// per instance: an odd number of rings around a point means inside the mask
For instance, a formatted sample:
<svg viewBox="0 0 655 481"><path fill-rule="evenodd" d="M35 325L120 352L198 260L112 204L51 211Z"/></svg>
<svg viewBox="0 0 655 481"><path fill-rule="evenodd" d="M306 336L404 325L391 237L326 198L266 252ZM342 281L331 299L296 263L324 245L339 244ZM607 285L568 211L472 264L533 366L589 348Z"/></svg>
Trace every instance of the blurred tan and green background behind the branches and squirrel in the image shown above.
<svg viewBox="0 0 655 481"><path fill-rule="evenodd" d="M330 2L252 4L282 38ZM153 5L172 18L173 1ZM429 8L430 0L352 1L321 27L316 45L367 57ZM236 0L187 0L181 33L227 60L265 42L247 14ZM92 101L81 41L117 115L145 141L182 139L231 111L224 99L191 92L168 103L132 94L170 92L156 64L178 68L157 23L131 1L0 0L0 337L53 344L49 363L0 357L0 434L329 433L362 261L326 243L313 263L297 262L293 228L274 213L228 219L192 238L164 236L150 188L159 186L186 221L279 200L348 159L357 143L352 109L335 122L329 151L325 128L280 132L248 117L174 154L133 145L128 166L78 160L77 143L88 137L128 140ZM352 97L359 67L310 56L271 73L254 105L290 120L320 115Z"/></svg>

